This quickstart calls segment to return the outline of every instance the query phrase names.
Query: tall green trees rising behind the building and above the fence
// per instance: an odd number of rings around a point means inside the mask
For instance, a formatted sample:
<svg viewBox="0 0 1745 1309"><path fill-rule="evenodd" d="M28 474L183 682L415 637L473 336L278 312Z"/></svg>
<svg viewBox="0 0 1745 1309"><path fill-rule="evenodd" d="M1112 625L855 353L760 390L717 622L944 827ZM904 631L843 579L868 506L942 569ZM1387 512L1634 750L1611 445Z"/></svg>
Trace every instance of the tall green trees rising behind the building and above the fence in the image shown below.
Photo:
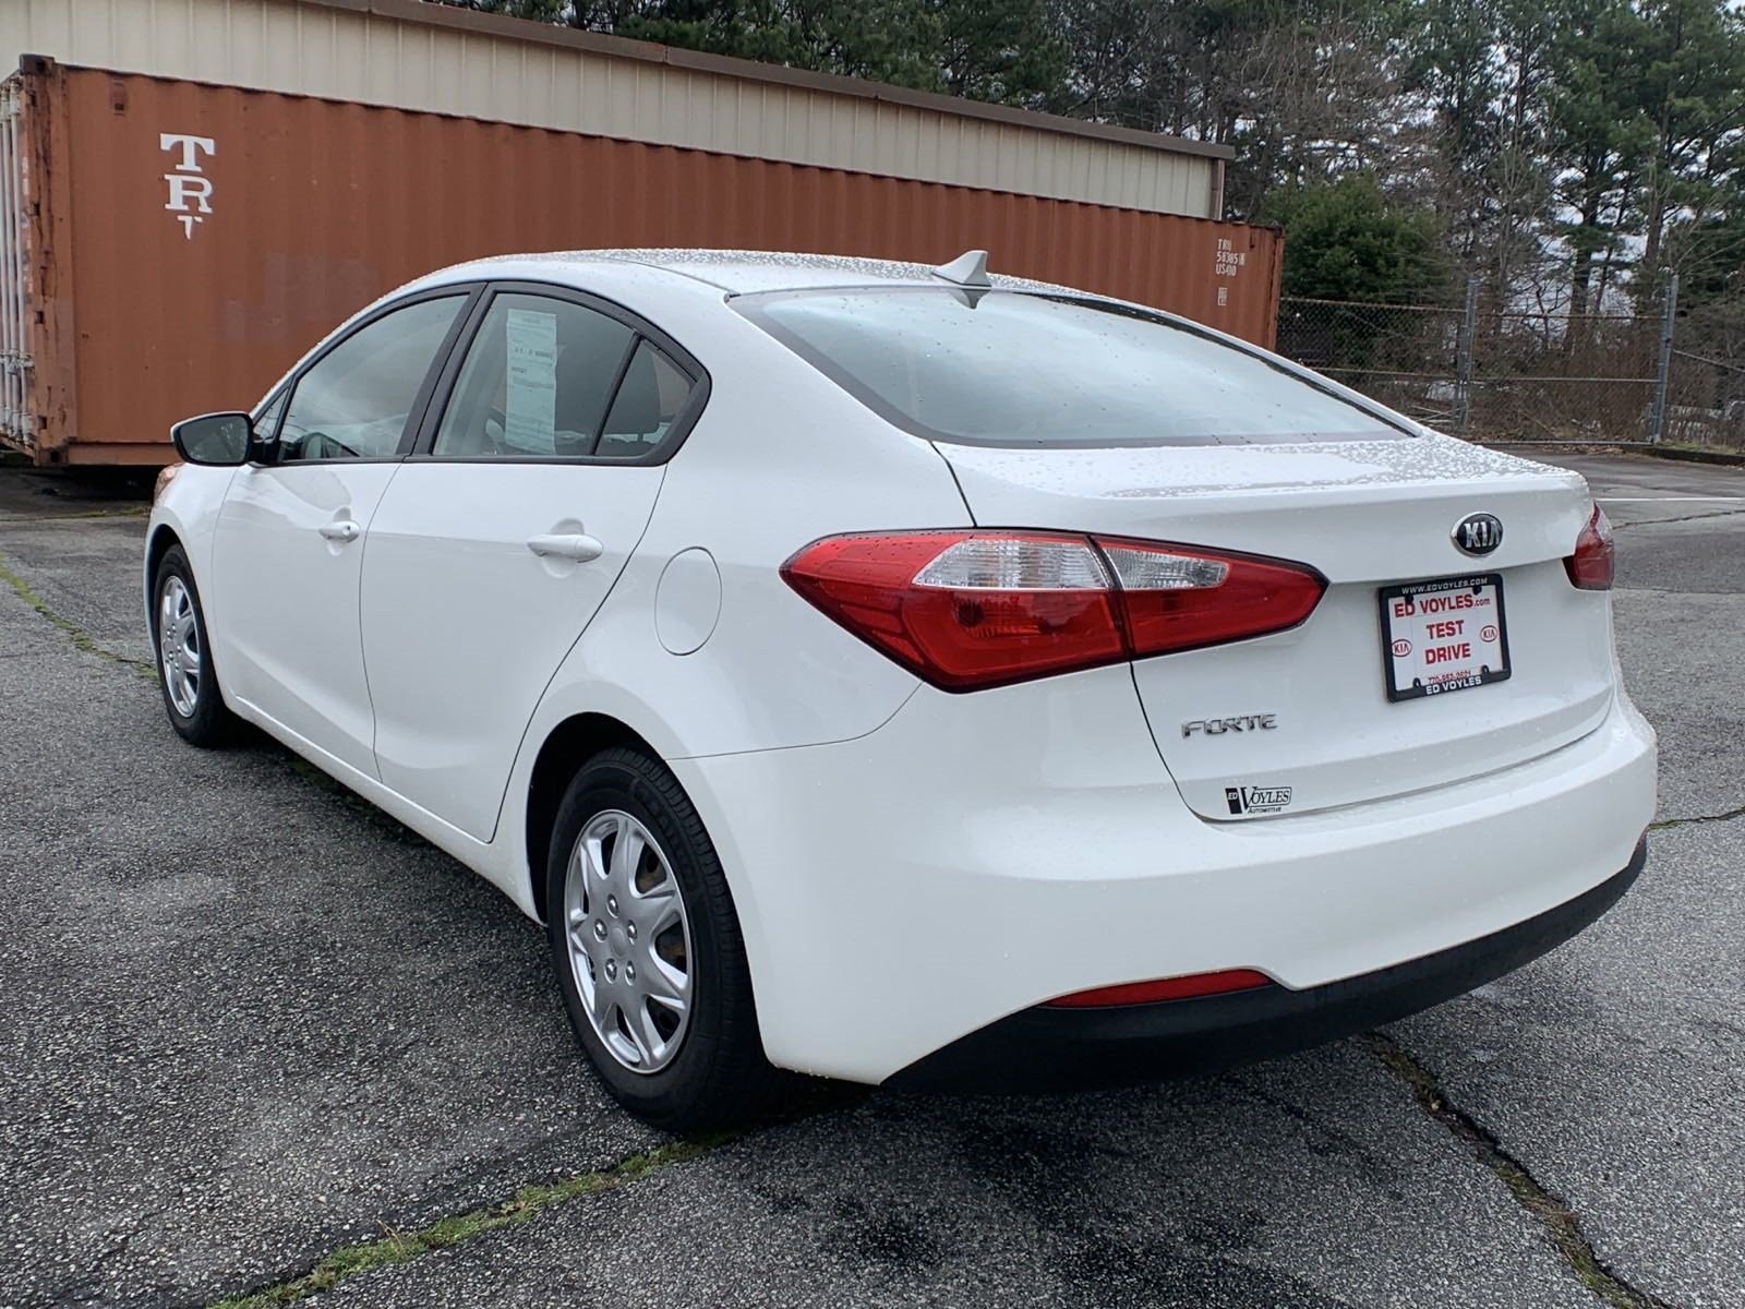
<svg viewBox="0 0 1745 1309"><path fill-rule="evenodd" d="M1745 300L1733 0L468 0L1227 143L1290 295Z"/></svg>

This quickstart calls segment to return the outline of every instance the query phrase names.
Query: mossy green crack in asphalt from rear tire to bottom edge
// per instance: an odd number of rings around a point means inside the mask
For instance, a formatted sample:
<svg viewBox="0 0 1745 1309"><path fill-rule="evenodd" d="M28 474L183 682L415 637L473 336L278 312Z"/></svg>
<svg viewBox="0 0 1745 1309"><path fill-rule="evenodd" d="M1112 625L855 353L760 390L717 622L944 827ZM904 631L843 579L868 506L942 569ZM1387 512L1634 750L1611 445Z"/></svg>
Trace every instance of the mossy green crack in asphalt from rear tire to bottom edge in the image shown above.
<svg viewBox="0 0 1745 1309"><path fill-rule="evenodd" d="M318 1260L307 1272L295 1278L284 1278L243 1295L215 1300L211 1302L211 1309L279 1309L279 1306L297 1304L311 1295L330 1292L342 1281L359 1274L407 1264L422 1255L471 1241L485 1232L494 1232L499 1227L529 1222L557 1204L633 1185L661 1169L717 1150L743 1134L743 1131L733 1131L668 1141L667 1145L656 1145L653 1150L642 1150L619 1159L611 1168L574 1173L558 1182L522 1187L510 1199L436 1218L412 1232L394 1232L389 1229L387 1236L377 1241L335 1250Z"/></svg>

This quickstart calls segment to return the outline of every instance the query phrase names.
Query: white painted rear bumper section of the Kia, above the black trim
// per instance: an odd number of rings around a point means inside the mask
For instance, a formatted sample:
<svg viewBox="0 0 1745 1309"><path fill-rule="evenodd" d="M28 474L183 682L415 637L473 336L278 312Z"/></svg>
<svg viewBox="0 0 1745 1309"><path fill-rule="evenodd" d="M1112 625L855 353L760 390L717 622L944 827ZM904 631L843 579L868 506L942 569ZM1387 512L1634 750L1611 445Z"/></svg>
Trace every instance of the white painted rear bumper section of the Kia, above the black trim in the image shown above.
<svg viewBox="0 0 1745 1309"><path fill-rule="evenodd" d="M1654 735L1619 695L1529 763L1208 822L1126 668L921 688L859 740L672 766L733 887L766 1054L857 1082L1075 991L1255 969L1304 993L1482 941L1611 880L1654 817Z"/></svg>

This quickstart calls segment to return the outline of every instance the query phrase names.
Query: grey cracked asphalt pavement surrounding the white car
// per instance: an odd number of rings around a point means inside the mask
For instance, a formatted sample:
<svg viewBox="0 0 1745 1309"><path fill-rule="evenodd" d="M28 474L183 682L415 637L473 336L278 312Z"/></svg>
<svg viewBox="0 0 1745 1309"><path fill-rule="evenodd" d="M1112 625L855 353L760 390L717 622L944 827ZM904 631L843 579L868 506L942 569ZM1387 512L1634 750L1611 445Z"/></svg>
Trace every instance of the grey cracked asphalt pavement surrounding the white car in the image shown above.
<svg viewBox="0 0 1745 1309"><path fill-rule="evenodd" d="M707 1141L604 1096L497 892L185 747L141 508L0 473L0 1306L1745 1306L1745 469L1564 463L1661 733L1607 918L1225 1077Z"/></svg>

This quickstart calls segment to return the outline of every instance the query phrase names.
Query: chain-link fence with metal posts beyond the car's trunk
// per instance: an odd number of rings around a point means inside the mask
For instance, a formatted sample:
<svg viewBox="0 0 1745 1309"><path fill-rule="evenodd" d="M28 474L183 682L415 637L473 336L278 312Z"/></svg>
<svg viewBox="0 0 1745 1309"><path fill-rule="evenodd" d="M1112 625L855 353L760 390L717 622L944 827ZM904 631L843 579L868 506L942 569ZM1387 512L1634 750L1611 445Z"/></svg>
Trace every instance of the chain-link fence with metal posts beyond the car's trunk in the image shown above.
<svg viewBox="0 0 1745 1309"><path fill-rule="evenodd" d="M1286 297L1277 349L1443 431L1488 442L1745 449L1745 307L1679 318Z"/></svg>

